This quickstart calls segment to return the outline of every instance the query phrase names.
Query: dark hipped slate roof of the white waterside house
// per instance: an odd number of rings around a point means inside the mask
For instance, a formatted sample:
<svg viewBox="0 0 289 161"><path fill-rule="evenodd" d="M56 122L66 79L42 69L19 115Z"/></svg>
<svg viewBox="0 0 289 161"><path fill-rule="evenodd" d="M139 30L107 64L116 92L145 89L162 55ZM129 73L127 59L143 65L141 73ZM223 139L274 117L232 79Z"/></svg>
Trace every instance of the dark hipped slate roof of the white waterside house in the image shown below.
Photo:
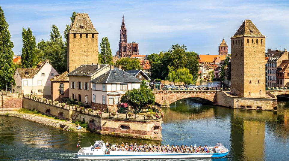
<svg viewBox="0 0 289 161"><path fill-rule="evenodd" d="M128 83L128 82L141 82L141 81L121 69L114 68L112 70L109 70L105 74L102 74L99 77L93 79L90 82L93 82L93 83Z"/></svg>

